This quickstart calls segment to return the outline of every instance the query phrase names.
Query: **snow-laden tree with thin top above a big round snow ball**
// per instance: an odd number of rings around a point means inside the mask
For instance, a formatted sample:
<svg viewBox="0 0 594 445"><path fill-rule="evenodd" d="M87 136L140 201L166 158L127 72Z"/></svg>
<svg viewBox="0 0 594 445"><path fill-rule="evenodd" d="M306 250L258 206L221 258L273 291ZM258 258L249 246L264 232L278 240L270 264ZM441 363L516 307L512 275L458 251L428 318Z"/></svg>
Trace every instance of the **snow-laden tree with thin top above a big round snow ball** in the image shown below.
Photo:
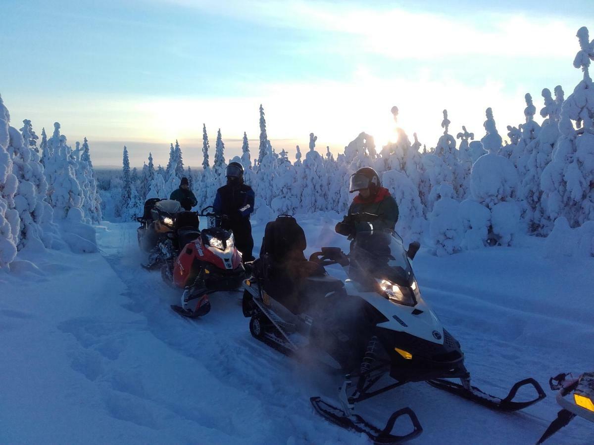
<svg viewBox="0 0 594 445"><path fill-rule="evenodd" d="M513 163L497 154L501 149L501 136L497 133L490 108L486 109L486 117L486 135L481 142L489 153L481 156L472 166L470 192L474 201L491 212L491 243L509 246L521 231L520 206L517 202L519 178Z"/></svg>

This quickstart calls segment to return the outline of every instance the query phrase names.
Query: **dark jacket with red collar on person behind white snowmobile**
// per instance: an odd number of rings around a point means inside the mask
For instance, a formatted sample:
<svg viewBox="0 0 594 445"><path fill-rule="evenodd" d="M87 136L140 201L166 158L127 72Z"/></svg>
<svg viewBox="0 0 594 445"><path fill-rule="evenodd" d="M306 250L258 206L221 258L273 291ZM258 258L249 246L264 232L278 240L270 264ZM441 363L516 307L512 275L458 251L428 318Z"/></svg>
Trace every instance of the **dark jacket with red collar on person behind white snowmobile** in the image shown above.
<svg viewBox="0 0 594 445"><path fill-rule="evenodd" d="M352 217L353 214L367 213ZM342 222L336 224L336 232L346 236L353 236L359 230L369 230L373 227L376 230L390 229L394 230L398 221L398 205L390 195L388 189L380 187L375 196L364 199L361 195L355 196L349 207L349 214ZM375 217L374 215L377 215ZM371 224L371 226L370 226Z"/></svg>

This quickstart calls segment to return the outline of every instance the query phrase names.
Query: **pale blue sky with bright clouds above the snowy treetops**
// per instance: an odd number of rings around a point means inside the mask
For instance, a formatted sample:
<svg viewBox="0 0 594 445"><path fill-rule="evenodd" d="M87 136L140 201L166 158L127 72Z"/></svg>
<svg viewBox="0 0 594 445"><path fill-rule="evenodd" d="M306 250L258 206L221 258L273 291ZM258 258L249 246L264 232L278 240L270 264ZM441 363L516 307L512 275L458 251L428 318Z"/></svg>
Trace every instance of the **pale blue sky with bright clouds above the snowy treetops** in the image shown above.
<svg viewBox="0 0 594 445"><path fill-rule="evenodd" d="M290 158L311 132L335 155L396 126L430 148L444 109L451 134L481 138L491 107L505 137L526 93L537 110L543 88L568 96L582 26L591 0L2 0L0 94L17 128L86 136L96 166L121 166L124 145L132 166L165 165L176 139L200 166L203 123L211 159L219 128L228 160L244 132L257 157L260 104Z"/></svg>

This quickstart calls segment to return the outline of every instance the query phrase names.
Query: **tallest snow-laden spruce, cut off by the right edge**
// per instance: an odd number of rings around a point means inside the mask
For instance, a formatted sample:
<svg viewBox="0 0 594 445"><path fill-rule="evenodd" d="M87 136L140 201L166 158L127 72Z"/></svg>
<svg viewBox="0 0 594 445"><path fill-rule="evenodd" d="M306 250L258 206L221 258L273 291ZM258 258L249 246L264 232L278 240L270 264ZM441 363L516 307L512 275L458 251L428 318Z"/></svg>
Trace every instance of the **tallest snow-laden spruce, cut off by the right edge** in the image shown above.
<svg viewBox="0 0 594 445"><path fill-rule="evenodd" d="M570 227L594 220L594 84L589 74L594 40L589 41L586 27L577 38L580 50L573 66L582 68L583 79L561 106L561 135L541 176L548 225L558 217L567 218Z"/></svg>

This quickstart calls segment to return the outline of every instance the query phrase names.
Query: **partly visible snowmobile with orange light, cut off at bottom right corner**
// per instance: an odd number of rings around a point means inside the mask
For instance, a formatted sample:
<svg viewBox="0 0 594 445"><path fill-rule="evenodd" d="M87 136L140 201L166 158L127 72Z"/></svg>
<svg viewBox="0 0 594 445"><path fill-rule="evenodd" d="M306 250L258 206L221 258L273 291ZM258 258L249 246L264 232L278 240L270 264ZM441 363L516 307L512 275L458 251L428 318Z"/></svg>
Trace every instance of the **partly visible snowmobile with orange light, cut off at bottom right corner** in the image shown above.
<svg viewBox="0 0 594 445"><path fill-rule="evenodd" d="M561 411L551 422L537 445L543 443L577 416L594 422L594 372L583 373L574 379L571 373L561 373L549 380L551 390L557 390L557 403ZM573 395L573 400L566 398Z"/></svg>

